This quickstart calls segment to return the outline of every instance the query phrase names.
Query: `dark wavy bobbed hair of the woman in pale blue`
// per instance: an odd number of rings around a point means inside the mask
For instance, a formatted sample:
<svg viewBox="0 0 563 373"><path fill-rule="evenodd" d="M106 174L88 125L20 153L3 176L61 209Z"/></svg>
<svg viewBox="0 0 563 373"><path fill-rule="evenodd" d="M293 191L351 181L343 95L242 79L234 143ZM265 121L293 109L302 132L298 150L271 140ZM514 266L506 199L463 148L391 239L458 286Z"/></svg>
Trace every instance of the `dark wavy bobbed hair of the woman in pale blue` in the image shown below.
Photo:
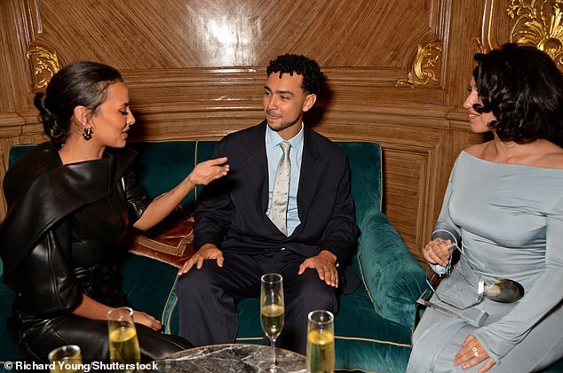
<svg viewBox="0 0 563 373"><path fill-rule="evenodd" d="M502 141L525 144L561 132L563 76L550 56L535 47L507 43L475 55L479 113L496 117L488 127Z"/></svg>

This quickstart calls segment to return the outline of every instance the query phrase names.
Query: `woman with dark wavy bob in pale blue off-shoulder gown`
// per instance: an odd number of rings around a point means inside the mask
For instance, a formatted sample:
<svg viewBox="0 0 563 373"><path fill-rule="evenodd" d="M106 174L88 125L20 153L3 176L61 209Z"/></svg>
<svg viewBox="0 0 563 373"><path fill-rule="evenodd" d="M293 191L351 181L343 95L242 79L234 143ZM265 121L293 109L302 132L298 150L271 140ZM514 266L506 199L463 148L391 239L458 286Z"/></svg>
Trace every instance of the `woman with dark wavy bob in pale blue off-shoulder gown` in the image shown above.
<svg viewBox="0 0 563 373"><path fill-rule="evenodd" d="M533 372L563 358L563 149L548 138L563 120L563 77L533 47L505 44L475 55L464 102L473 132L494 139L456 159L424 259L438 272L450 244L463 248L447 287L476 291L518 281L522 299L484 298L476 327L427 308L413 335L408 372Z"/></svg>

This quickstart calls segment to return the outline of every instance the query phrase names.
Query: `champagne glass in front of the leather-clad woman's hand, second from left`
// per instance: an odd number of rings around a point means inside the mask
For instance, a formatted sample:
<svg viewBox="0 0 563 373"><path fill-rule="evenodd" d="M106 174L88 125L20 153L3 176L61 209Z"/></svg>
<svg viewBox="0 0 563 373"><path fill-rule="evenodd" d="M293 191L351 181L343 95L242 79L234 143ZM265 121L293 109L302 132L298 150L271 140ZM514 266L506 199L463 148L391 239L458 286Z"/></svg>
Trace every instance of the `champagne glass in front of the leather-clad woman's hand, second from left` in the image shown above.
<svg viewBox="0 0 563 373"><path fill-rule="evenodd" d="M140 362L140 350L133 310L130 307L118 307L109 311L107 332L109 361L119 364L119 371L135 372Z"/></svg>

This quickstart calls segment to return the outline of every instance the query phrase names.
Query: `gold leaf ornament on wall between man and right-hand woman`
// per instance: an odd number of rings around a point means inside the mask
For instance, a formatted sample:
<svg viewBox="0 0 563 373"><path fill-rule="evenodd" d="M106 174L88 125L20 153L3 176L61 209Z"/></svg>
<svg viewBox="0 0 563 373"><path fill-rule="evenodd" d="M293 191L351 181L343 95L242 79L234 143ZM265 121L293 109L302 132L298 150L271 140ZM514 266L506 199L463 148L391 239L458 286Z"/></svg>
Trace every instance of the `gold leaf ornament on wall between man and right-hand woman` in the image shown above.
<svg viewBox="0 0 563 373"><path fill-rule="evenodd" d="M430 80L438 81L436 74L432 70L440 62L441 43L434 42L424 45L418 44L416 58L406 79L400 79L395 83L395 87L408 84L411 89L428 84Z"/></svg>

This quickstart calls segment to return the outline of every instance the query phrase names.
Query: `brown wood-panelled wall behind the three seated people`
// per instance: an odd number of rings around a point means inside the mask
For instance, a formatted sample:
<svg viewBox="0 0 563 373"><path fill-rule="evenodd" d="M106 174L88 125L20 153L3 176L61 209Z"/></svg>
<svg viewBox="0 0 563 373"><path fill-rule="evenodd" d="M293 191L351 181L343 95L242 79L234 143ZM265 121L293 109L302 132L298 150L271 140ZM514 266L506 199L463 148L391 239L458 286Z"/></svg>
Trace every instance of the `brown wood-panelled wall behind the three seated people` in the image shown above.
<svg viewBox="0 0 563 373"><path fill-rule="evenodd" d="M548 3L546 13L553 10ZM456 155L485 138L470 132L461 107L472 56L512 40L512 15L534 6L532 0L3 0L0 177L12 144L44 139L32 100L55 62L93 59L122 71L138 120L131 140L218 139L263 119L268 61L302 53L329 76L305 123L335 140L382 144L384 211L418 255ZM28 59L30 51L46 54Z"/></svg>

